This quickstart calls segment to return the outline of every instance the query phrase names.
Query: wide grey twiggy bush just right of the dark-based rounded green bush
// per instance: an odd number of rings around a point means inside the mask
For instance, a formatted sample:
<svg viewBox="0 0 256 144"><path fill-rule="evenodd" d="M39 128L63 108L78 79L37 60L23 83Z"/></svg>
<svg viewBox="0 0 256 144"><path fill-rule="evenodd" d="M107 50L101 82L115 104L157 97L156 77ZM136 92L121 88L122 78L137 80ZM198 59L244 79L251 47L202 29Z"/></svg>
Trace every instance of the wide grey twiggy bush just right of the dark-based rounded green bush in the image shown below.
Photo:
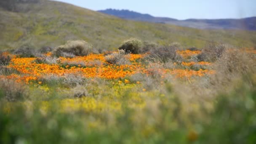
<svg viewBox="0 0 256 144"><path fill-rule="evenodd" d="M178 45L175 43L170 45L161 45L150 51L148 59L152 61L160 61L163 63L168 61L179 61L182 58L176 53L177 50Z"/></svg>

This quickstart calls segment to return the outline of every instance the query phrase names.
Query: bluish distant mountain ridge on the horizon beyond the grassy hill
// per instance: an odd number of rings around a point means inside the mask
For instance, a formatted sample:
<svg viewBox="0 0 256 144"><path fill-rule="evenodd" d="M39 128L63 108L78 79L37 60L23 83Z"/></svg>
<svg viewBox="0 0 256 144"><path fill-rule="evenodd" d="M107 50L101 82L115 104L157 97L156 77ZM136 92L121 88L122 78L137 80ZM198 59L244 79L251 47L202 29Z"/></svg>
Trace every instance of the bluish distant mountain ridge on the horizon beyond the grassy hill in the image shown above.
<svg viewBox="0 0 256 144"><path fill-rule="evenodd" d="M196 29L243 29L256 30L256 17L245 19L186 19L177 20L165 17L154 17L149 14L141 14L129 10L106 9L99 11L122 19L134 21L147 21L154 23L173 24L182 27Z"/></svg>

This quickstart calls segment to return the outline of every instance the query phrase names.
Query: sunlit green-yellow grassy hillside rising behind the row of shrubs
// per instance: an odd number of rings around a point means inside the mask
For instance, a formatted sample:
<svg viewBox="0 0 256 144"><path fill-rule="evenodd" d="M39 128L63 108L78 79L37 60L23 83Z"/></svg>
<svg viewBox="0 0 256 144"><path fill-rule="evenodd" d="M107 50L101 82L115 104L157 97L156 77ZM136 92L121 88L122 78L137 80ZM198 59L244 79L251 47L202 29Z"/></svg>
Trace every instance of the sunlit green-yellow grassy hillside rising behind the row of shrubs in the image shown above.
<svg viewBox="0 0 256 144"><path fill-rule="evenodd" d="M179 42L184 47L202 47L207 41L251 47L256 32L199 30L168 24L128 21L66 3L42 0L21 4L29 9L14 13L0 9L0 50L32 44L35 48L83 39L97 48L113 49L130 37L155 43Z"/></svg>

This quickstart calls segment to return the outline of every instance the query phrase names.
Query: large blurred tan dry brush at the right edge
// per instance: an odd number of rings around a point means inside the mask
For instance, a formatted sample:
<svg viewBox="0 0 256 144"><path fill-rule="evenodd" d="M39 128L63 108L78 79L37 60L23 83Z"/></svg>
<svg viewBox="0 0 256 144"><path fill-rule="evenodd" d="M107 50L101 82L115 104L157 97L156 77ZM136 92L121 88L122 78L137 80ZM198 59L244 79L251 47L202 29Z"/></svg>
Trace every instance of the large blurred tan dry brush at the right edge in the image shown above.
<svg viewBox="0 0 256 144"><path fill-rule="evenodd" d="M256 63L253 56L236 49L228 49L213 65L215 75L211 75L210 87L228 91L228 85L234 80L256 73ZM237 83L238 84L238 83Z"/></svg>

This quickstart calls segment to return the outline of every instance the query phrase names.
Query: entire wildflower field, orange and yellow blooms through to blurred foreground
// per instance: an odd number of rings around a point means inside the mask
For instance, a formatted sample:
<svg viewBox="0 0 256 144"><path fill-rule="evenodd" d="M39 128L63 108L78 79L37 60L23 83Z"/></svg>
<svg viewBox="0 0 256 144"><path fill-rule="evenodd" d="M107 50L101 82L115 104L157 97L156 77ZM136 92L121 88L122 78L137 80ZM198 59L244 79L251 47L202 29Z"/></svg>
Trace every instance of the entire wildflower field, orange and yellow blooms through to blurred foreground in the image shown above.
<svg viewBox="0 0 256 144"><path fill-rule="evenodd" d="M256 50L209 47L1 52L0 143L255 144Z"/></svg>

